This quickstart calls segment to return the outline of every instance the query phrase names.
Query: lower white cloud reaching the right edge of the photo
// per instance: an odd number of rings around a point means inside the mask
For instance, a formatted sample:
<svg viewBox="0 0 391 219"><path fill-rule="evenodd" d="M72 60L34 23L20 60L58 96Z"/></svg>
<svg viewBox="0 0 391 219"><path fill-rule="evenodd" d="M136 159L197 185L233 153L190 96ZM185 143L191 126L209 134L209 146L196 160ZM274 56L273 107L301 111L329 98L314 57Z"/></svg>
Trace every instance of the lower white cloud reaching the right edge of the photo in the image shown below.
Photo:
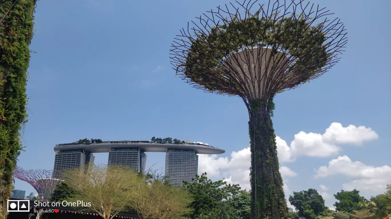
<svg viewBox="0 0 391 219"><path fill-rule="evenodd" d="M332 175L345 175L353 181L343 184L344 190L358 189L359 191L384 191L391 182L391 167L368 166L360 161L352 161L348 156L339 156L316 170L316 178Z"/></svg>

